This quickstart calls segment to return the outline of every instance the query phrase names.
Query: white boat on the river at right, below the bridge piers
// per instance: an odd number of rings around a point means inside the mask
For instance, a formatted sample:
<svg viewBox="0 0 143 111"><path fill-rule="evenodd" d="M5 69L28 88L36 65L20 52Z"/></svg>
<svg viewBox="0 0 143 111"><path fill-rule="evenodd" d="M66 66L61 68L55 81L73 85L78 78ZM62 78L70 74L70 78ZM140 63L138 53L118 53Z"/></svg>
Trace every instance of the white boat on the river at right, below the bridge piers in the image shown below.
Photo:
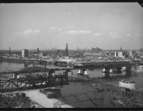
<svg viewBox="0 0 143 111"><path fill-rule="evenodd" d="M119 81L119 87L127 88L130 90L135 90L135 81L127 81L127 80L121 80Z"/></svg>

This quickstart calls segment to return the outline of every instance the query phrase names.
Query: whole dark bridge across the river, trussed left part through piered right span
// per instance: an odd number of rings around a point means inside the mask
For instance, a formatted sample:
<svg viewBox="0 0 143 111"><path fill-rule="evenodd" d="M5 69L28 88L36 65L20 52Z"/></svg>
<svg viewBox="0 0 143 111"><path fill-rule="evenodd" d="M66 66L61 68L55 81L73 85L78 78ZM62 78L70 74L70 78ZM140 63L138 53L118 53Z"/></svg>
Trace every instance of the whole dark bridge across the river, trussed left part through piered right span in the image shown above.
<svg viewBox="0 0 143 111"><path fill-rule="evenodd" d="M110 69L117 68L117 72L121 72L122 67L126 67L126 74L131 74L131 66L133 63L124 62L80 62L74 64L74 67L55 67L55 68L43 68L43 67L27 67L19 71L1 72L1 74L12 74L13 77L7 80L0 79L0 92L19 91L25 89L37 89L54 86L63 86L69 83L68 72L75 69L86 70L89 66L105 68L105 77L110 77ZM55 75L55 71L65 70L65 73ZM35 73L41 73L37 75ZM33 74L34 73L34 74ZM30 77L20 77L20 74L35 75Z"/></svg>

